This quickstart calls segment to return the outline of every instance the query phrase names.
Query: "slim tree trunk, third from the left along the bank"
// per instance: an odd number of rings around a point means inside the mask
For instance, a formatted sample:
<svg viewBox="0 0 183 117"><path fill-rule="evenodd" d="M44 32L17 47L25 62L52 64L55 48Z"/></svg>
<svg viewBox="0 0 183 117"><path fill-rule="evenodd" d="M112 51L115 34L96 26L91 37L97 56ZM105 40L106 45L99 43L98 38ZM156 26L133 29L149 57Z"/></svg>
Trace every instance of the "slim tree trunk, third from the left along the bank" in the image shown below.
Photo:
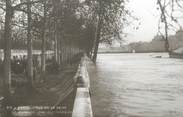
<svg viewBox="0 0 183 117"><path fill-rule="evenodd" d="M41 79L45 80L45 71L46 71L46 4L44 2L44 17L43 17L43 29L42 29L42 49L41 49Z"/></svg>

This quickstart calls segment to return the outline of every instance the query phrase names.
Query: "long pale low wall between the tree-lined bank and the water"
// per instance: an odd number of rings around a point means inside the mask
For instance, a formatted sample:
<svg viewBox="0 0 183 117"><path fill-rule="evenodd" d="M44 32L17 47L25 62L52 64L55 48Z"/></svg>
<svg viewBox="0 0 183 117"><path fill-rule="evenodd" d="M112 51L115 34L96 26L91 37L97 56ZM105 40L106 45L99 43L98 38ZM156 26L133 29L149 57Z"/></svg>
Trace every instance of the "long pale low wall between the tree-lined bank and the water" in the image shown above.
<svg viewBox="0 0 183 117"><path fill-rule="evenodd" d="M93 117L90 98L90 80L86 68L86 60L86 56L81 58L81 62L74 77L76 97L72 117Z"/></svg>

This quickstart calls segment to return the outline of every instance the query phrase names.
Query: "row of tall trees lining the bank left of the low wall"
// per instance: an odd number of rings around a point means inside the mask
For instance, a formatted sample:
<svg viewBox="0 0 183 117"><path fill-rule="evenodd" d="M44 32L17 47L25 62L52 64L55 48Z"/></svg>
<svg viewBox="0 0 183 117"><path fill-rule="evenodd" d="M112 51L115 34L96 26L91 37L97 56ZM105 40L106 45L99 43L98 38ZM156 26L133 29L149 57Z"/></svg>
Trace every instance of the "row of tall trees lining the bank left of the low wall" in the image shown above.
<svg viewBox="0 0 183 117"><path fill-rule="evenodd" d="M122 38L129 15L125 5L124 0L1 0L5 99L11 91L14 40L24 42L27 47L27 79L32 87L33 44L41 45L43 78L48 44L59 65L81 51L96 61L100 42L110 42L111 37Z"/></svg>

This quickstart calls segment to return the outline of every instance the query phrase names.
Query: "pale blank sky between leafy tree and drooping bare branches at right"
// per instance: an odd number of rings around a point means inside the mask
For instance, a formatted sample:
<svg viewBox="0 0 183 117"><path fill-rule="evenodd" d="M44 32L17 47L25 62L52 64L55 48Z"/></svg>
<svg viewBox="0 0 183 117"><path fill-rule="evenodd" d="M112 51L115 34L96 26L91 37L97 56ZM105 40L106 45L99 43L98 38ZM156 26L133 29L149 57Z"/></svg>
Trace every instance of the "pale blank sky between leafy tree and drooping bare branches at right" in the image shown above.
<svg viewBox="0 0 183 117"><path fill-rule="evenodd" d="M129 33L127 42L150 41L157 34L158 30L158 11L156 10L157 0L130 0L129 7L133 14L140 19L140 27L134 30L132 27L127 29Z"/></svg>

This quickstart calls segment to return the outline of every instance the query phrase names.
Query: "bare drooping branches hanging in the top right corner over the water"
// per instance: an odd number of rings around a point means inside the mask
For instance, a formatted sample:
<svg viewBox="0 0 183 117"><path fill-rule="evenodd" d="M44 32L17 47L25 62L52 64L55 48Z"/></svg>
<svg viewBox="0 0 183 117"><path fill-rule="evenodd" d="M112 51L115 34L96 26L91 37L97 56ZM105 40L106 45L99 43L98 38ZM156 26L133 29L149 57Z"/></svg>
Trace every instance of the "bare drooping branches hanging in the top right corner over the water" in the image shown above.
<svg viewBox="0 0 183 117"><path fill-rule="evenodd" d="M181 27L179 24L179 19L181 17L177 17L176 14L180 14L183 11L183 1L182 0L157 0L157 5L159 6L160 10L160 23L164 24L163 30L164 33L161 33L160 29L161 27L158 26L159 28L159 33L163 36L165 40L165 49L168 53L171 52L170 50L170 44L169 44L169 33L171 30L177 30L177 25L178 28Z"/></svg>

